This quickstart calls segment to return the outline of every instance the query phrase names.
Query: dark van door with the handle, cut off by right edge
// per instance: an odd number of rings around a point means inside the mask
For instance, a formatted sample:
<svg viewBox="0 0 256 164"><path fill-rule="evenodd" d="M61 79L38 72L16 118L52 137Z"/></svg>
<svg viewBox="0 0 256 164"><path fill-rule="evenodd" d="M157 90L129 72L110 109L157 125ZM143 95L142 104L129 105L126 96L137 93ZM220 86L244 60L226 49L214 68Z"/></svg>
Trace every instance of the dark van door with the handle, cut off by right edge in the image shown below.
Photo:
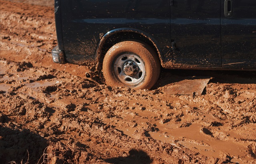
<svg viewBox="0 0 256 164"><path fill-rule="evenodd" d="M256 68L256 1L222 0L222 66Z"/></svg>

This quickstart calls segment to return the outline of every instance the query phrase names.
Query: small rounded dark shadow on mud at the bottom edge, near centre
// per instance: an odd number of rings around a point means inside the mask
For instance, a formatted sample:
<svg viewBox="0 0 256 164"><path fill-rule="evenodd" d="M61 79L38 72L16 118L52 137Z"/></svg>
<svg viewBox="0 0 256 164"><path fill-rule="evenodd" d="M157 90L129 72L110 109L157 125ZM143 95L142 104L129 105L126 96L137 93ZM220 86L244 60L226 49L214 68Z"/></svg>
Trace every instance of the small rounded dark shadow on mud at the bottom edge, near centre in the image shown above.
<svg viewBox="0 0 256 164"><path fill-rule="evenodd" d="M132 149L129 151L127 157L117 157L105 159L106 162L111 164L151 164L152 160L146 152L142 150Z"/></svg>

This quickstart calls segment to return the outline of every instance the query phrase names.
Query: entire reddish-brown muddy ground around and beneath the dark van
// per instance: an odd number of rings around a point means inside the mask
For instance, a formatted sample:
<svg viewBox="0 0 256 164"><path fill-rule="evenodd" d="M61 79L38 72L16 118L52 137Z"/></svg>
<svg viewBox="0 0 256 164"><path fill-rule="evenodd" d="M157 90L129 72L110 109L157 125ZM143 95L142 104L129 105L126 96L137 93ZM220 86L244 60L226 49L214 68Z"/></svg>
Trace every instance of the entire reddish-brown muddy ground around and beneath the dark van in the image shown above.
<svg viewBox="0 0 256 164"><path fill-rule="evenodd" d="M0 163L256 161L256 73L162 70L152 90L55 64L53 0L0 1ZM210 76L201 96L177 79Z"/></svg>

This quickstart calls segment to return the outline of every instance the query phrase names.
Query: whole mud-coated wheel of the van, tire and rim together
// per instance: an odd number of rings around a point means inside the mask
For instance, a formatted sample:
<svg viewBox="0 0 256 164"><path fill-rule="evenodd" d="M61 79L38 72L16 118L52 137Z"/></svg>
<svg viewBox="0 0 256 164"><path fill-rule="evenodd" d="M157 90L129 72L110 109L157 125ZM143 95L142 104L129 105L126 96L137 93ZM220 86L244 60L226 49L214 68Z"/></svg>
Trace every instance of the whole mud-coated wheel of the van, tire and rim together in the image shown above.
<svg viewBox="0 0 256 164"><path fill-rule="evenodd" d="M160 61L147 44L124 41L108 50L102 72L108 86L150 89L159 78Z"/></svg>

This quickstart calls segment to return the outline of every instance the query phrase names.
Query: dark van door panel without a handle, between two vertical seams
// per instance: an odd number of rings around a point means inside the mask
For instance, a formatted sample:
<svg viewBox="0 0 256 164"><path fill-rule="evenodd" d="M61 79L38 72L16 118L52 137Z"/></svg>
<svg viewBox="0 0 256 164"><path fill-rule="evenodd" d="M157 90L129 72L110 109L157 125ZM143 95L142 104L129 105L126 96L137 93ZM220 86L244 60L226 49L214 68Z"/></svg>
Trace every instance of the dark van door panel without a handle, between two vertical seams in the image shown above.
<svg viewBox="0 0 256 164"><path fill-rule="evenodd" d="M174 66L221 67L220 0L171 0Z"/></svg>

